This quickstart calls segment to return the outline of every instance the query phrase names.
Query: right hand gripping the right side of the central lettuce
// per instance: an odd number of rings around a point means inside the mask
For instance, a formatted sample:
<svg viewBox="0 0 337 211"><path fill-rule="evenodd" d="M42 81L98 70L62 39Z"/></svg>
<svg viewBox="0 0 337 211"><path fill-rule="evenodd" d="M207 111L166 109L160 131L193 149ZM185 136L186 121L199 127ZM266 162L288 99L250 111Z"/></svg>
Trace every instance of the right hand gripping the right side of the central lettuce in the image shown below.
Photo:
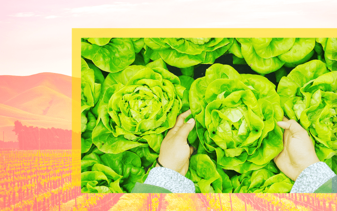
<svg viewBox="0 0 337 211"><path fill-rule="evenodd" d="M290 179L295 181L301 172L311 164L320 162L315 147L307 131L295 120L283 117L282 122L277 122L283 133L283 150L274 161L277 167Z"/></svg>

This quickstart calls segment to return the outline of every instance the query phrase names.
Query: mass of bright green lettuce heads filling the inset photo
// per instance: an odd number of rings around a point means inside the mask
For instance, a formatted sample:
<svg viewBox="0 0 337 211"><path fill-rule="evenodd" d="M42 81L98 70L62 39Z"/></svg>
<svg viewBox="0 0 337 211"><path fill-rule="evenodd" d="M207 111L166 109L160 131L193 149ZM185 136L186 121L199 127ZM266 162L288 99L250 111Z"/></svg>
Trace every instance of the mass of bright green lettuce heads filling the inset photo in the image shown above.
<svg viewBox="0 0 337 211"><path fill-rule="evenodd" d="M227 53L260 75L214 64ZM194 80L199 66L205 75ZM289 193L293 181L273 161L283 112L336 173L335 70L336 38L82 38L82 193L131 193L189 109L185 122L196 127L187 140L198 150L186 178L197 193ZM272 72L277 93L263 77Z"/></svg>

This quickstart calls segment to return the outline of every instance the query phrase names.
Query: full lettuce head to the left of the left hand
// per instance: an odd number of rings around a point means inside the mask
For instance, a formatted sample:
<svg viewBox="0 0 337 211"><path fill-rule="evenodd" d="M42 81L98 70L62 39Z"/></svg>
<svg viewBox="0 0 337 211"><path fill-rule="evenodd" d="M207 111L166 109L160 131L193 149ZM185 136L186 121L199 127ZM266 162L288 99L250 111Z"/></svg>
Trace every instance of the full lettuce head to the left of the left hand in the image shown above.
<svg viewBox="0 0 337 211"><path fill-rule="evenodd" d="M104 153L139 146L159 153L164 132L174 126L186 104L184 91L162 59L110 73L102 86L93 144Z"/></svg>

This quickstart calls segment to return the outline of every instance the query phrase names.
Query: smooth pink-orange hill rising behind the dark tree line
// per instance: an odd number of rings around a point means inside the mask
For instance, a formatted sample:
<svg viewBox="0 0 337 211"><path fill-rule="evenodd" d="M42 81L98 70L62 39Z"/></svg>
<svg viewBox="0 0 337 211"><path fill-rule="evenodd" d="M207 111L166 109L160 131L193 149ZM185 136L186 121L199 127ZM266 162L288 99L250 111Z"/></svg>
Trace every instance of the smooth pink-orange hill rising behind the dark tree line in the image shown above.
<svg viewBox="0 0 337 211"><path fill-rule="evenodd" d="M71 80L57 73L0 76L0 132L4 131L4 141L16 141L12 131L15 120L26 126L71 130Z"/></svg>

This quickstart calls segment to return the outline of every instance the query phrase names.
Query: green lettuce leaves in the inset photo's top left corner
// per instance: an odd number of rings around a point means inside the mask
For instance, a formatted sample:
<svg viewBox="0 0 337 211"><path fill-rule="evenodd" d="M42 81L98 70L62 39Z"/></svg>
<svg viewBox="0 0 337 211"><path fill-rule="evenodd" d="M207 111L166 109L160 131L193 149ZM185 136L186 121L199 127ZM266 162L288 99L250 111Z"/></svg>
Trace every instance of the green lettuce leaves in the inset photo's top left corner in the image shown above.
<svg viewBox="0 0 337 211"><path fill-rule="evenodd" d="M144 38L82 38L81 56L106 72L131 65L144 47Z"/></svg>

